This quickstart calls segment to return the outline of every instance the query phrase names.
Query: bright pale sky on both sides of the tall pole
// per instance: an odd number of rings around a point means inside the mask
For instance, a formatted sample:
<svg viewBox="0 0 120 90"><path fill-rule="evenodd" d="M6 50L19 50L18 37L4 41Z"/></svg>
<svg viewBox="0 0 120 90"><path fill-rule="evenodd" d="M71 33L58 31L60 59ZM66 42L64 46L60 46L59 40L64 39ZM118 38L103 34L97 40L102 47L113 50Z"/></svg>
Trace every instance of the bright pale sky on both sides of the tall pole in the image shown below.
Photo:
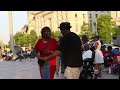
<svg viewBox="0 0 120 90"><path fill-rule="evenodd" d="M27 24L27 11L12 11L13 34ZM10 39L8 11L0 11L0 39L7 43Z"/></svg>

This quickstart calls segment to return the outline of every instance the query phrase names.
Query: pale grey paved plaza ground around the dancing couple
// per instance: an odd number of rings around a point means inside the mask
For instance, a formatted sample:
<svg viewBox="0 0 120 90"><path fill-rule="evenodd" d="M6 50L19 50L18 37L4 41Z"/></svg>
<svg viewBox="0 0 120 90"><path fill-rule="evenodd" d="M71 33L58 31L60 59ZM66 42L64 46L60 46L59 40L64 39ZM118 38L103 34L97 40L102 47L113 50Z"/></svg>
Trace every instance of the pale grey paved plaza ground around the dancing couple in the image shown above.
<svg viewBox="0 0 120 90"><path fill-rule="evenodd" d="M37 61L0 61L0 79L41 79ZM54 79L64 79L64 77L55 74ZM103 72L103 76L98 79L118 79L118 75Z"/></svg>

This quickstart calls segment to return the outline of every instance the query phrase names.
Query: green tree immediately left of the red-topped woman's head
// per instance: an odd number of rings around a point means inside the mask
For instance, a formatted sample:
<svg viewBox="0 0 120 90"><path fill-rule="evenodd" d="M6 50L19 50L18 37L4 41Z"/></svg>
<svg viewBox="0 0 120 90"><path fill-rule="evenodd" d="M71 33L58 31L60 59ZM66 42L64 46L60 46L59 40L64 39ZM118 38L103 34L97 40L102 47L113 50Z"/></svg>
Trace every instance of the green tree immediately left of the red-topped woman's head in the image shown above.
<svg viewBox="0 0 120 90"><path fill-rule="evenodd" d="M31 30L30 35L29 35L30 45L33 47L37 40L38 40L37 33L34 30Z"/></svg>

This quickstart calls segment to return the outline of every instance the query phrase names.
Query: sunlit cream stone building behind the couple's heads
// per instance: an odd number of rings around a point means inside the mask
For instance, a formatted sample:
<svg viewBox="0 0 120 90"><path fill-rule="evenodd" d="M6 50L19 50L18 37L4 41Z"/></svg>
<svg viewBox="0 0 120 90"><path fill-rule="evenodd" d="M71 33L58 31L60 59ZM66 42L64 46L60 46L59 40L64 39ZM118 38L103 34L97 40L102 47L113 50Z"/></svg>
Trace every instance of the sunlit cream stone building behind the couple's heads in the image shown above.
<svg viewBox="0 0 120 90"><path fill-rule="evenodd" d="M80 34L83 23L88 23L87 11L28 11L27 13L28 31L34 28L38 35L43 27L48 26L52 31L57 31L60 23L66 21L71 23L72 32Z"/></svg>

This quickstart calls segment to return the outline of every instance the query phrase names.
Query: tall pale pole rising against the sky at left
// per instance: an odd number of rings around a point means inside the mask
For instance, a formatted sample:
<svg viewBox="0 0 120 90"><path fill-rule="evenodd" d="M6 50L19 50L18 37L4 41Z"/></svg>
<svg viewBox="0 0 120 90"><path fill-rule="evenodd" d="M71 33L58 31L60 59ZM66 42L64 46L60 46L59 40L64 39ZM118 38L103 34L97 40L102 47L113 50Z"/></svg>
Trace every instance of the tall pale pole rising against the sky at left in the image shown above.
<svg viewBox="0 0 120 90"><path fill-rule="evenodd" d="M14 53L14 38L13 38L13 21L12 21L12 11L8 11L9 17L9 32L10 32L10 49Z"/></svg>

